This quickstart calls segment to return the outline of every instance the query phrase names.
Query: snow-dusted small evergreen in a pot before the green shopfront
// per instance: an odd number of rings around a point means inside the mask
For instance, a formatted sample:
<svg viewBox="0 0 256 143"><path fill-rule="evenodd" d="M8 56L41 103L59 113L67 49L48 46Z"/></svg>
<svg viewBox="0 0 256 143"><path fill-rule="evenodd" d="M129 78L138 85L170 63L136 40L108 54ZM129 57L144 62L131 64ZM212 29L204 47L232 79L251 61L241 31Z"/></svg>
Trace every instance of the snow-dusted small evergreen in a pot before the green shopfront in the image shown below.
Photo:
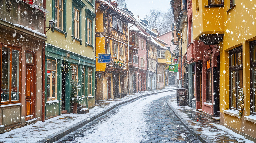
<svg viewBox="0 0 256 143"><path fill-rule="evenodd" d="M77 112L77 104L81 104L82 99L78 96L78 92L81 90L81 85L74 80L71 80L71 93L70 103L73 104L73 113Z"/></svg>

